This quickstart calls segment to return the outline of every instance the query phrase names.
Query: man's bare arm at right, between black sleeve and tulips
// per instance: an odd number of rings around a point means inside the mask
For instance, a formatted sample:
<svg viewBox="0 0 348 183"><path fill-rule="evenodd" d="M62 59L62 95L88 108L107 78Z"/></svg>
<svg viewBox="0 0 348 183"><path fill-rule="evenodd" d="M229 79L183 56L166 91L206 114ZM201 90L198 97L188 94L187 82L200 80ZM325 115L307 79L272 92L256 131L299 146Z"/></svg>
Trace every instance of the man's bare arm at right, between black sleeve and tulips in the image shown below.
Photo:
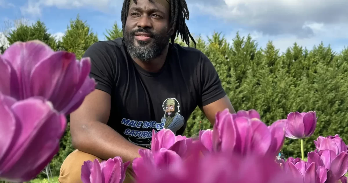
<svg viewBox="0 0 348 183"><path fill-rule="evenodd" d="M202 110L204 115L207 117L209 122L212 123L212 125L214 125L215 123L216 113L221 112L222 110L226 108L230 110L230 113L236 113L227 95L222 97L219 100L216 100L215 102L212 102L211 104L200 107L200 109Z"/></svg>

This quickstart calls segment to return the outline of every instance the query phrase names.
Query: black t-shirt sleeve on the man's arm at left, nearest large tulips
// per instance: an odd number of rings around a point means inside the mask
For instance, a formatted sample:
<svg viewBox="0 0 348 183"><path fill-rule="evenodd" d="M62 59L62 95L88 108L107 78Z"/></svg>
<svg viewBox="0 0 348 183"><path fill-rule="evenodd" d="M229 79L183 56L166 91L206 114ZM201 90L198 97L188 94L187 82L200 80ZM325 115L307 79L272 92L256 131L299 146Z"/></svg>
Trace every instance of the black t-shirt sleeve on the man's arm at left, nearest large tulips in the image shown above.
<svg viewBox="0 0 348 183"><path fill-rule="evenodd" d="M111 95L115 76L115 60L112 58L108 43L99 41L91 45L83 55L89 57L91 69L89 76L94 78L97 85L95 89L102 90Z"/></svg>

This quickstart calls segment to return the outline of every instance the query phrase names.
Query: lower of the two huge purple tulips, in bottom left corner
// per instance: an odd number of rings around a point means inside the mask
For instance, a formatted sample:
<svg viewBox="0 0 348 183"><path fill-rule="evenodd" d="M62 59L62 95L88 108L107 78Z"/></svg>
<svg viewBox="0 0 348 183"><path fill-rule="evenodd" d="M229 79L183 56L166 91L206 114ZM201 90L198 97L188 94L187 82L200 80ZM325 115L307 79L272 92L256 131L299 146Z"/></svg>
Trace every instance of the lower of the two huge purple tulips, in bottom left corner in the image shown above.
<svg viewBox="0 0 348 183"><path fill-rule="evenodd" d="M0 179L29 181L59 151L66 127L64 114L49 101L21 101L0 93Z"/></svg>

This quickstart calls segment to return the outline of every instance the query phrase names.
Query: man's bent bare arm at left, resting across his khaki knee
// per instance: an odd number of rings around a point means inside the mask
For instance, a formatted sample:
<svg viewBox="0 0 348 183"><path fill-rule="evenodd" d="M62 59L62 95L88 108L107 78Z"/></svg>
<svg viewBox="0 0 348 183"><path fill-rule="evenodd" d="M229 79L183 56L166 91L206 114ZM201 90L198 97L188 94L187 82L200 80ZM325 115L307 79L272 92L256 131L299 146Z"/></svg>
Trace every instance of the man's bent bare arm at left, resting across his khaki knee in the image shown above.
<svg viewBox="0 0 348 183"><path fill-rule="evenodd" d="M106 125L110 116L110 94L94 90L82 105L70 114L70 130L74 148L107 160L116 156L133 161L140 157L140 146L130 143Z"/></svg>

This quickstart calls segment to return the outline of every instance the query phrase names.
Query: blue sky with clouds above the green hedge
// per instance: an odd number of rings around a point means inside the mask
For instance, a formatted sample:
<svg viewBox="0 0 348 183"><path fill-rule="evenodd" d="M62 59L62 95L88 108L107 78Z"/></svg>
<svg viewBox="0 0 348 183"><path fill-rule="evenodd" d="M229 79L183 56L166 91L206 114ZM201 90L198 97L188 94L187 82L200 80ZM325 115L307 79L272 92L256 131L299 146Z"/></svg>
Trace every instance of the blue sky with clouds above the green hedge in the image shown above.
<svg viewBox="0 0 348 183"><path fill-rule="evenodd" d="M105 29L120 23L123 0L0 0L0 31L4 21L24 18L45 22L49 32L64 34L80 15L101 40ZM232 41L236 32L251 36L264 47L272 40L280 51L294 42L311 49L323 41L339 52L348 46L347 0L186 0L188 27L204 38L214 31ZM1 40L0 40L1 41ZM1 44L1 43L0 43Z"/></svg>

